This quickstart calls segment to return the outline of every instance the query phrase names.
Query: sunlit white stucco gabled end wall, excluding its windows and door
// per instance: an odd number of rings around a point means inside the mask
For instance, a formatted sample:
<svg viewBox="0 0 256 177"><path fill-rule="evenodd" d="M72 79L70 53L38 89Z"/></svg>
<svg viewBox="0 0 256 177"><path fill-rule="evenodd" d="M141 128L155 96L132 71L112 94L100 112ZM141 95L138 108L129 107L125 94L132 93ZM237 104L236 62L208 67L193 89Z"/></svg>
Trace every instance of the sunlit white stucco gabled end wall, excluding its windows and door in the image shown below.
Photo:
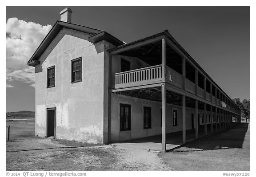
<svg viewBox="0 0 256 177"><path fill-rule="evenodd" d="M36 135L46 136L46 109L56 107L56 138L103 143L104 45L62 28L36 66ZM71 83L71 60L82 57L82 82ZM47 68L55 66L55 87Z"/></svg>

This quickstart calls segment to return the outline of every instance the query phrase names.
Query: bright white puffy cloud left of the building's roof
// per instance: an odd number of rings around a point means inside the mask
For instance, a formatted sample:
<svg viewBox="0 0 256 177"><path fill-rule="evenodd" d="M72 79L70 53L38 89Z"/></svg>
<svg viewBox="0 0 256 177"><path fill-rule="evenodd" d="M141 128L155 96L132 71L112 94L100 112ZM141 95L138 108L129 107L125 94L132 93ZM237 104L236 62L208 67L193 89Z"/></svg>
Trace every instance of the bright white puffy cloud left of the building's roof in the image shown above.
<svg viewBox="0 0 256 177"><path fill-rule="evenodd" d="M24 83L35 82L34 67L27 62L42 42L52 25L42 26L17 18L6 23L6 80ZM32 87L34 84L31 84Z"/></svg>

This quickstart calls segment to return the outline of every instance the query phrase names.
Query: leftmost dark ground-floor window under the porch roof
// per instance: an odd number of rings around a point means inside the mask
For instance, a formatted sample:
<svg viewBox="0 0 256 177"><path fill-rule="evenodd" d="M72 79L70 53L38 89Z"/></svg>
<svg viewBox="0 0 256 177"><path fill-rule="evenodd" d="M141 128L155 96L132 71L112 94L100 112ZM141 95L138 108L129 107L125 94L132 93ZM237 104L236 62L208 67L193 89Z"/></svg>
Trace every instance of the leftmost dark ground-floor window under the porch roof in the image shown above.
<svg viewBox="0 0 256 177"><path fill-rule="evenodd" d="M131 105L120 104L120 131L131 130Z"/></svg>

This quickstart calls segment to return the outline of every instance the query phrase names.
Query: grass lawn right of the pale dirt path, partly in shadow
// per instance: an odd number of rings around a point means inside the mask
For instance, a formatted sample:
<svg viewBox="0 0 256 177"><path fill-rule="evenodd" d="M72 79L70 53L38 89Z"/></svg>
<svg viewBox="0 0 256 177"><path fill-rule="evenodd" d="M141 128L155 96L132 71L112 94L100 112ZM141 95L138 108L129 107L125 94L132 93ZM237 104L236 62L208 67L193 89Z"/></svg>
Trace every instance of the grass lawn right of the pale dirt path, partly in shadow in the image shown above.
<svg viewBox="0 0 256 177"><path fill-rule="evenodd" d="M250 126L241 123L159 156L174 171L250 171Z"/></svg>

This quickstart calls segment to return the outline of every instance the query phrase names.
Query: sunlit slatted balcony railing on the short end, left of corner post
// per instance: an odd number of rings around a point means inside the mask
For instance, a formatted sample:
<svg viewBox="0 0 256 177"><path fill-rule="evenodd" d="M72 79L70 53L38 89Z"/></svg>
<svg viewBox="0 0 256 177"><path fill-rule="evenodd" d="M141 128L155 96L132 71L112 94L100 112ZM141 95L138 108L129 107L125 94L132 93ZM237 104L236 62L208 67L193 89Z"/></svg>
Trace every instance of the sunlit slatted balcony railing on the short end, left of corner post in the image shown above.
<svg viewBox="0 0 256 177"><path fill-rule="evenodd" d="M162 66L140 68L113 75L112 88L132 87L150 83L157 83L162 79Z"/></svg>

